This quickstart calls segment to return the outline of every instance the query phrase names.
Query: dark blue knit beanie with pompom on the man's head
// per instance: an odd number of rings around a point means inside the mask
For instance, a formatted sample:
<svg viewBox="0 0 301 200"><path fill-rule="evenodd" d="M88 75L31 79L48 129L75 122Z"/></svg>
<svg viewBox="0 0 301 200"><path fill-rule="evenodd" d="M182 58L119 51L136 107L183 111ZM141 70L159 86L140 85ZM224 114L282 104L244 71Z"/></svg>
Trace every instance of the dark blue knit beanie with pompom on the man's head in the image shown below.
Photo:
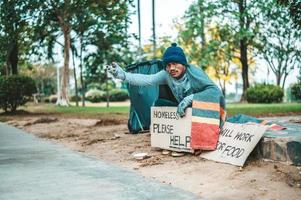
<svg viewBox="0 0 301 200"><path fill-rule="evenodd" d="M177 46L177 43L172 43L170 47L168 47L162 58L164 65L167 65L170 62L180 63L182 65L188 65L186 56L181 47Z"/></svg>

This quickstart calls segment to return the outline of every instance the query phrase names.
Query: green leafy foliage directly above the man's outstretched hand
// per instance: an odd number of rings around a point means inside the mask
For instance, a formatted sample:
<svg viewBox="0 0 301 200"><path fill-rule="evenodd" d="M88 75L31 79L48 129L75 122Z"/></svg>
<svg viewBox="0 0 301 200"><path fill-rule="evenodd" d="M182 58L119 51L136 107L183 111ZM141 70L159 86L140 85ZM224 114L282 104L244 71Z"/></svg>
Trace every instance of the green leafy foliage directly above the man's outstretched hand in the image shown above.
<svg viewBox="0 0 301 200"><path fill-rule="evenodd" d="M118 62L121 66L132 63L133 57L127 34L129 26L129 7L132 1L111 1L102 9L95 7L92 13L97 16L91 27L93 34L88 45L95 51L83 58L87 83L104 82L106 80L105 65ZM89 13L90 14L90 13Z"/></svg>

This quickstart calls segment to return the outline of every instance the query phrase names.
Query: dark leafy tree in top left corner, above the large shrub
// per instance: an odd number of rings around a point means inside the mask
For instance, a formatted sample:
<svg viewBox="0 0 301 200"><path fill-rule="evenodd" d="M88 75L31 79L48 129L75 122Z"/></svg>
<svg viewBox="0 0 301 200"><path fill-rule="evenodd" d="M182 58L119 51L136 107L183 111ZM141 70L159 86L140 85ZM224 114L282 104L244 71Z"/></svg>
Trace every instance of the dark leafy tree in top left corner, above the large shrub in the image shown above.
<svg viewBox="0 0 301 200"><path fill-rule="evenodd" d="M0 73L18 74L20 56L30 51L32 31L28 13L32 1L0 1Z"/></svg>

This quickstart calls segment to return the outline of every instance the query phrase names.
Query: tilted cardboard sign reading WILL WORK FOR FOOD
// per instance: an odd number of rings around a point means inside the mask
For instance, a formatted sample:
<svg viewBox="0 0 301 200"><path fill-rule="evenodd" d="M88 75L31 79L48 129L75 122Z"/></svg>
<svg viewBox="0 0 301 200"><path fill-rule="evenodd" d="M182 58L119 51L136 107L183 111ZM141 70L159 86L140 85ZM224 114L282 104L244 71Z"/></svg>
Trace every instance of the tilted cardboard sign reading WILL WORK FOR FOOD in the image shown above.
<svg viewBox="0 0 301 200"><path fill-rule="evenodd" d="M268 127L259 124L233 124L226 122L219 135L215 151L202 152L208 160L243 166Z"/></svg>

